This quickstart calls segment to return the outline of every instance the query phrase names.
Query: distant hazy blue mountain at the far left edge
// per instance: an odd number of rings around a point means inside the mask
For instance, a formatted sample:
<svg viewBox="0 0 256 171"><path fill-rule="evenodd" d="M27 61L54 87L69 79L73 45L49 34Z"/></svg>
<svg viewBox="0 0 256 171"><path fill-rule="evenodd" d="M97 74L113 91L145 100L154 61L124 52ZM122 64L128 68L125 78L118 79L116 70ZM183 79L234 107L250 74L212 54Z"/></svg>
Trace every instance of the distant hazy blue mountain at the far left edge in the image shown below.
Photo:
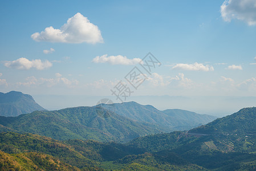
<svg viewBox="0 0 256 171"><path fill-rule="evenodd" d="M44 110L30 95L17 91L0 92L0 116L18 116Z"/></svg>

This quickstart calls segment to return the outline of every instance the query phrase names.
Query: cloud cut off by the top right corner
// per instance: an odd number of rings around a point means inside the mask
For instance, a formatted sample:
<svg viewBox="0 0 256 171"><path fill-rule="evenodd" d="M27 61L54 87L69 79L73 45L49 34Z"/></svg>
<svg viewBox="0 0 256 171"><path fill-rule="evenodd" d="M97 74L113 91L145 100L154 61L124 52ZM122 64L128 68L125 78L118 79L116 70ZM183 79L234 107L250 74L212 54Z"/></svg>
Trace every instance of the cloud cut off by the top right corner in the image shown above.
<svg viewBox="0 0 256 171"><path fill-rule="evenodd" d="M226 0L221 6L221 16L226 22L239 19L249 26L256 25L256 1Z"/></svg>

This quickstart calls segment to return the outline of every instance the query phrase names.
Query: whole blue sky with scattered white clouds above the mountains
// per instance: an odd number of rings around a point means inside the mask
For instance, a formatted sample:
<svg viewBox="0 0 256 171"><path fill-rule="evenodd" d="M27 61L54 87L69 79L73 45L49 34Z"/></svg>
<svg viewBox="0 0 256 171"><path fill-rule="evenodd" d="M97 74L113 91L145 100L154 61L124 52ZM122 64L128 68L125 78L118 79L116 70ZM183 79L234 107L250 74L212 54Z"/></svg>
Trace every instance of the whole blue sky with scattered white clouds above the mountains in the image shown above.
<svg viewBox="0 0 256 171"><path fill-rule="evenodd" d="M223 116L256 103L254 0L1 1L0 19L0 92L46 109L107 97Z"/></svg>

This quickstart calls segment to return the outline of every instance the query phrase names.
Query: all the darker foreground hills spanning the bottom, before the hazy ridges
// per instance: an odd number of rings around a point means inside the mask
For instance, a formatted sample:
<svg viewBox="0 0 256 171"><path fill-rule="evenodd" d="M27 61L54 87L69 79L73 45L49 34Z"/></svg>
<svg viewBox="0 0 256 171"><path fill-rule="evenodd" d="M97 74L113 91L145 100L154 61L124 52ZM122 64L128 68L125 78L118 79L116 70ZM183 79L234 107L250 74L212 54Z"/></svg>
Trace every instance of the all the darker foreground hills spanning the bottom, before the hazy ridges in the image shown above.
<svg viewBox="0 0 256 171"><path fill-rule="evenodd" d="M106 114L99 117L115 115ZM255 116L256 108L243 108L189 131L151 134L124 144L2 131L0 169L254 170Z"/></svg>

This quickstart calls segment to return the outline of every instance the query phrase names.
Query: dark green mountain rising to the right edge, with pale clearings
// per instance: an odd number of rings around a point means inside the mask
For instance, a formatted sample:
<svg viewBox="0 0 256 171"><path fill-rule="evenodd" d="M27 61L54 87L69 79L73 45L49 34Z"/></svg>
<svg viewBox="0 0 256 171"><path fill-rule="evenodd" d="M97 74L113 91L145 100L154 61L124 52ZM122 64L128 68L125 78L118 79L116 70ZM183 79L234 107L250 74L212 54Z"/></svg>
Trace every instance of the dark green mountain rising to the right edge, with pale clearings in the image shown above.
<svg viewBox="0 0 256 171"><path fill-rule="evenodd" d="M174 153L210 170L254 170L255 115L256 108L244 108L188 132L138 137L128 144L160 155Z"/></svg>

